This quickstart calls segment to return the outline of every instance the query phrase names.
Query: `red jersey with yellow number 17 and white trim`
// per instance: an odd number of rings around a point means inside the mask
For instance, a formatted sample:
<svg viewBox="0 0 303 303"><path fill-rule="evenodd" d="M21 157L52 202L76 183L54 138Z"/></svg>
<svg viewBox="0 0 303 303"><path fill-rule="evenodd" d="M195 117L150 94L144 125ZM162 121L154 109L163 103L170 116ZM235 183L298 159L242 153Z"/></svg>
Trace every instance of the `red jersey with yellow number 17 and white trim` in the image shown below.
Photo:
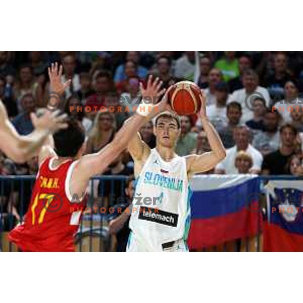
<svg viewBox="0 0 303 303"><path fill-rule="evenodd" d="M72 195L69 183L75 161L55 169L55 158L42 162L34 184L24 223L14 228L9 239L23 251L74 251L85 198Z"/></svg>

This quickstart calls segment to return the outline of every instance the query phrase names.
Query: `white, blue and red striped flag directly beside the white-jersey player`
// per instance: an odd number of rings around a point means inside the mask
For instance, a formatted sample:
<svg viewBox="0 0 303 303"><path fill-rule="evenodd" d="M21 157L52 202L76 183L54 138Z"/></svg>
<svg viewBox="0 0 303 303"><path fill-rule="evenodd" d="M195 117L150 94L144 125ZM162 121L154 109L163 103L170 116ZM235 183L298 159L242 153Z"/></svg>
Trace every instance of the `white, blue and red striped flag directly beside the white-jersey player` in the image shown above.
<svg viewBox="0 0 303 303"><path fill-rule="evenodd" d="M190 249L255 236L261 226L257 175L200 175L192 180Z"/></svg>

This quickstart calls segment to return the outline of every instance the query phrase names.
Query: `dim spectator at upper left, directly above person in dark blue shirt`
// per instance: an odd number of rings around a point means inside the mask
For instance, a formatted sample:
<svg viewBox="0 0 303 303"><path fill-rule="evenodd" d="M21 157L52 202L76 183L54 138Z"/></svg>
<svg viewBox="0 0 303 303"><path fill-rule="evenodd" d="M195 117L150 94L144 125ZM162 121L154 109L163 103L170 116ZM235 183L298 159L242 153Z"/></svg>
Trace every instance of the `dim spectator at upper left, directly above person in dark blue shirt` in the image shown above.
<svg viewBox="0 0 303 303"><path fill-rule="evenodd" d="M29 65L21 66L19 70L19 78L14 86L14 95L17 98L18 111L22 112L21 99L25 94L32 94L34 89L34 78L32 69Z"/></svg>

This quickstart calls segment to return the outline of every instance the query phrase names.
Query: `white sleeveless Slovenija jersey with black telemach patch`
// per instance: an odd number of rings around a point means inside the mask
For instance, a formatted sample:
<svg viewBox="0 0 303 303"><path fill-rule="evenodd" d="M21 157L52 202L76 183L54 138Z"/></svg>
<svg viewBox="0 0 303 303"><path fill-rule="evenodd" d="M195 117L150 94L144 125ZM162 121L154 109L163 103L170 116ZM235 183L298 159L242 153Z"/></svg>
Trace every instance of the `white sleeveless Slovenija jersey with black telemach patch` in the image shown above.
<svg viewBox="0 0 303 303"><path fill-rule="evenodd" d="M151 149L137 181L129 224L140 246L163 251L164 243L186 241L190 195L185 158L166 162Z"/></svg>

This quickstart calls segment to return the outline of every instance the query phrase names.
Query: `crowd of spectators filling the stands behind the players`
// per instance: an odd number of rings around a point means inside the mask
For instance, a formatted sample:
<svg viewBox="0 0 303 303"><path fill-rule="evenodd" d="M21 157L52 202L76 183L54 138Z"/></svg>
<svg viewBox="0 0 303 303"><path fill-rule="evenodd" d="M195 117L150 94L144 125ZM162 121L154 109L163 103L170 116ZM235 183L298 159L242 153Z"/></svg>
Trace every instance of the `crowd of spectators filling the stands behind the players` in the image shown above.
<svg viewBox="0 0 303 303"><path fill-rule="evenodd" d="M190 80L204 91L207 115L227 148L226 159L207 173L301 174L303 52L0 52L0 99L20 134L33 130L29 114L45 107L47 67L55 61L63 65L62 80L72 80L60 107L85 130L86 153L112 141L138 104L139 83L153 74L166 88ZM209 151L197 117L180 121L177 154ZM155 147L152 121L140 133ZM1 159L2 175L37 172L36 159ZM127 152L105 173L112 174L133 174ZM14 209L15 193L2 205Z"/></svg>

